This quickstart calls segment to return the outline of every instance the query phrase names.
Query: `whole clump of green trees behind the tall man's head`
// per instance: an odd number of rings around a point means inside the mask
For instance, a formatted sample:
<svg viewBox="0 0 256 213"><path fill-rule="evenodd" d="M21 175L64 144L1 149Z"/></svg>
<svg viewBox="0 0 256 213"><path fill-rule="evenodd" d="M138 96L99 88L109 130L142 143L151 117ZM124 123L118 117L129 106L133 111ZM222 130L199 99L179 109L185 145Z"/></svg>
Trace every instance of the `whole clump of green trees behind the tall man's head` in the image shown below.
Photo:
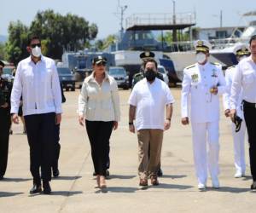
<svg viewBox="0 0 256 213"><path fill-rule="evenodd" d="M54 59L61 59L64 50L89 47L90 40L98 33L96 24L74 14L55 14L51 9L38 11L29 27L20 20L9 24L9 41L6 45L8 59L15 65L28 56L27 38L38 35L42 39L42 52Z"/></svg>

